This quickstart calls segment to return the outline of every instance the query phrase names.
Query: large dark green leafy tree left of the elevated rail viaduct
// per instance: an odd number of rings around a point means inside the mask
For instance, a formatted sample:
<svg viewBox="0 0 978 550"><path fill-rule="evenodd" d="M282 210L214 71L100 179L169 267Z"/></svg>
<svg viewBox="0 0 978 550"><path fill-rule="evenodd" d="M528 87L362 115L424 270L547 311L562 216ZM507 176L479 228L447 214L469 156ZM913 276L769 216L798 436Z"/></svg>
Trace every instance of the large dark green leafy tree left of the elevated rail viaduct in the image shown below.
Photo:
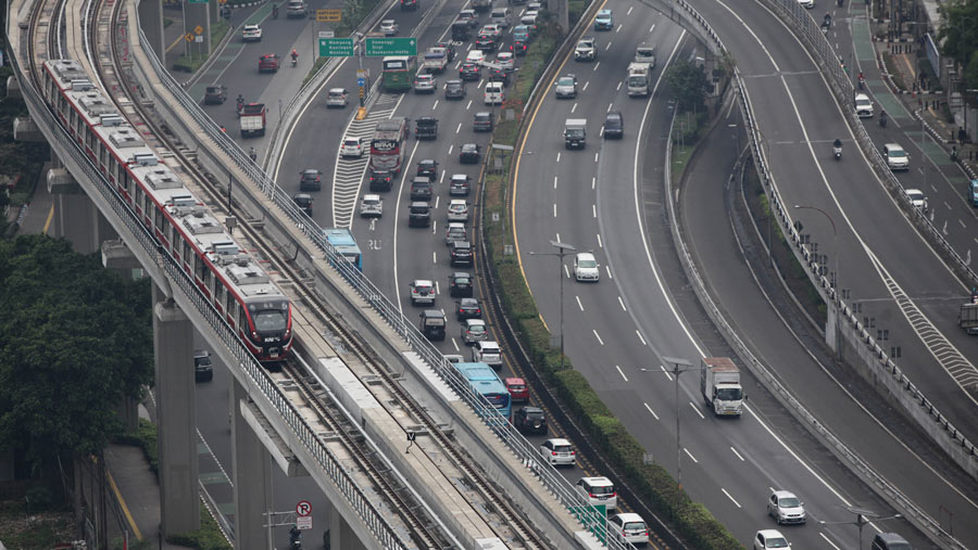
<svg viewBox="0 0 978 550"><path fill-rule="evenodd" d="M98 452L152 381L148 281L45 235L0 242L0 447L37 465Z"/></svg>

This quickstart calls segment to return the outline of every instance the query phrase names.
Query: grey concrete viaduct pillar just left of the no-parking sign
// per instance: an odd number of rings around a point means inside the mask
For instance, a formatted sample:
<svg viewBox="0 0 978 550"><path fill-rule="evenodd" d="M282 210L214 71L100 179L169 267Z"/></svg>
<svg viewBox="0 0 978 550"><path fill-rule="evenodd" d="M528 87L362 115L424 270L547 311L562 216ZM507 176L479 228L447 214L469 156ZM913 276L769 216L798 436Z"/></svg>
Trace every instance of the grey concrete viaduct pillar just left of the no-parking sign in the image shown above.
<svg viewBox="0 0 978 550"><path fill-rule="evenodd" d="M273 510L272 459L261 439L241 418L240 402L249 399L234 379L230 391L231 464L235 479L235 548L267 550L268 523L263 513ZM341 547L334 547L341 548Z"/></svg>

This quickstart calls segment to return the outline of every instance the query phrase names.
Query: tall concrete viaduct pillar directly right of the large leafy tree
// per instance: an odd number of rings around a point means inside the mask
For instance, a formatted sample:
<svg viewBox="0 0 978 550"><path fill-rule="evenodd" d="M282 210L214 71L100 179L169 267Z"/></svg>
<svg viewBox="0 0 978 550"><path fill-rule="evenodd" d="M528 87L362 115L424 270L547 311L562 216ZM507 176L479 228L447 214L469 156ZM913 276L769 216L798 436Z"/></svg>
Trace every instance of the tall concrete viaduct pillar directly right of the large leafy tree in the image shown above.
<svg viewBox="0 0 978 550"><path fill-rule="evenodd" d="M193 324L153 285L153 353L163 534L200 528Z"/></svg>

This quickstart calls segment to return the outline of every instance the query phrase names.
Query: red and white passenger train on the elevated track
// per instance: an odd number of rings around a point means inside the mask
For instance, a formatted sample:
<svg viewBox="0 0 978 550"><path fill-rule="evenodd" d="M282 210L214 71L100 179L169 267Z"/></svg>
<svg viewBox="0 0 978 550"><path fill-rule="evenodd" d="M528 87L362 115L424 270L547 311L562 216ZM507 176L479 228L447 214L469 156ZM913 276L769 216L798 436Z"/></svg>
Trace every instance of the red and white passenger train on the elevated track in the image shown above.
<svg viewBox="0 0 978 550"><path fill-rule="evenodd" d="M289 298L128 124L82 65L43 64L43 95L78 146L262 362L292 346Z"/></svg>

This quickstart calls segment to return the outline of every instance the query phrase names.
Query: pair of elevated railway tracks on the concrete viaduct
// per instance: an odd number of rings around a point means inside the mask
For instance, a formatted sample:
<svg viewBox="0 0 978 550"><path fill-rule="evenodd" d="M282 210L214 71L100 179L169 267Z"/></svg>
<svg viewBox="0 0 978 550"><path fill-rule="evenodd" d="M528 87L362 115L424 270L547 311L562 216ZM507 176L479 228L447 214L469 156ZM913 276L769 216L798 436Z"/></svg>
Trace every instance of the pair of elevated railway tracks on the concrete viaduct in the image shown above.
<svg viewBox="0 0 978 550"><path fill-rule="evenodd" d="M113 0L80 1L84 1L80 10L70 11L84 21L64 22L65 0L49 0L47 4L39 3L33 12L29 24L32 31L28 40L28 57L30 60L30 77L35 87L42 89L39 85L41 61L75 57L83 62L89 67L90 74L99 75L100 87L116 101L118 110L129 118L130 124L152 130L143 132L147 144L156 150L167 150L170 152L165 155L168 158L167 164L173 161L180 164L181 177L193 179L201 191L201 196L206 196L209 207L215 214L230 216L231 213L226 207L222 190L213 183L212 177L204 172L193 158L184 154L186 148L177 143L166 129L155 121L153 114L143 108L141 99L131 95L131 90L138 89L138 86L126 81L125 62L120 57L126 55L127 43L120 43L118 33L115 31L115 29L124 28L121 26L125 24L123 2ZM42 33L38 30L45 28L48 31L41 37ZM70 31L63 34L60 29L70 29ZM86 37L82 44L77 42L80 35ZM65 43L62 43L62 40ZM355 195L353 195L353 201L355 201ZM352 207L350 213L352 215ZM482 516L488 525L492 526L496 536L515 548L550 548L549 542L532 528L530 522L511 503L506 495L494 486L475 461L453 440L452 436L441 430L425 408L408 394L397 381L397 376L375 358L367 345L352 333L341 319L329 311L326 304L312 289L305 286L303 283L305 277L297 271L289 258L281 257L276 247L265 242L266 239L261 233L261 229L252 227L248 220L241 221L238 225L238 231L288 280L287 286L294 293L291 297L296 304L303 304L300 315L311 316L318 327L337 336L336 341L343 348L339 358L351 367L351 371L356 373L366 387L376 386L379 383L386 392L396 396L398 405L394 407L400 411L399 417L403 419L401 426L405 431L410 425L413 431L424 432L429 436L430 446L435 447L434 451L448 457L457 473L455 477L471 489L469 493L476 495L476 497L469 497L473 510ZM322 383L315 380L300 362L291 361L284 364L280 371L267 374L279 386L294 388L304 401L303 407L314 410L318 421L323 425L329 426L331 433L343 440L344 447L355 457L358 466L368 475L389 508L396 511L401 521L408 525L410 537L417 547L451 548L453 546L451 534L446 533L437 519L430 517L427 509L415 501L410 491L404 490L403 484L391 474L389 468L377 459L375 450L364 445L362 440L358 440L352 426L342 414L337 412L325 395ZM378 401L384 402L381 399ZM385 407L390 406L385 404ZM406 418L404 418L405 412ZM424 449L428 446L426 444L418 447ZM444 462L444 460L440 462ZM463 491L460 491L460 495L465 497Z"/></svg>

